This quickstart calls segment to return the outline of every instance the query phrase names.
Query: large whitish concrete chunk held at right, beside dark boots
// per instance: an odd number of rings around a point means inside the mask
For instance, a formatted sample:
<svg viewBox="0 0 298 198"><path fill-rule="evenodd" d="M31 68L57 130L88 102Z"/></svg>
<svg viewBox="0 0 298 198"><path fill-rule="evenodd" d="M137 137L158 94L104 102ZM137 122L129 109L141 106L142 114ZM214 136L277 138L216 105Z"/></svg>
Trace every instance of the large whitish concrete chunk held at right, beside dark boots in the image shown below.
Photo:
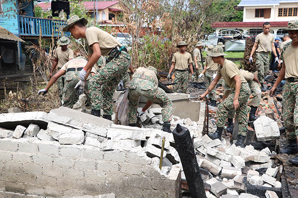
<svg viewBox="0 0 298 198"><path fill-rule="evenodd" d="M267 116L260 116L253 122L258 141L276 140L280 137L279 127L276 121Z"/></svg>

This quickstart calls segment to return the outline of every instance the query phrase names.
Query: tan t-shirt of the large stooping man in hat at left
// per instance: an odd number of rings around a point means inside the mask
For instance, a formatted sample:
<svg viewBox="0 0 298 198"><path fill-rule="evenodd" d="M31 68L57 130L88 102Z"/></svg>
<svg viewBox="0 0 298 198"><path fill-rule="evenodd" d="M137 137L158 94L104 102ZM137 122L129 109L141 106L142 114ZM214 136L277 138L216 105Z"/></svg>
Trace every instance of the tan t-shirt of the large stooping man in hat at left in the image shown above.
<svg viewBox="0 0 298 198"><path fill-rule="evenodd" d="M122 46L115 37L97 27L89 27L86 29L86 42L88 45L88 54L93 53L90 46L94 43L99 44L101 55L108 55L116 46Z"/></svg>

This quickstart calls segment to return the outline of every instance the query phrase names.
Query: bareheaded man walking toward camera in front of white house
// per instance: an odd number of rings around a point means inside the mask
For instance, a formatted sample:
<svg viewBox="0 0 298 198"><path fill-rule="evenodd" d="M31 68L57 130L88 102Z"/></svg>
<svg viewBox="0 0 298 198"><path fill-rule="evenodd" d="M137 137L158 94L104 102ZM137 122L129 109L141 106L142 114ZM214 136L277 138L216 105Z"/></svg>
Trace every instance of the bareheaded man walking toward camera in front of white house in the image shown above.
<svg viewBox="0 0 298 198"><path fill-rule="evenodd" d="M271 34L270 31L271 24L269 22L263 23L263 32L258 34L255 40L255 43L251 49L249 61L252 63L253 58L252 55L255 51L256 53L256 67L258 69L258 79L261 83L261 90L262 92L266 91L263 83L265 75L267 75L269 71L269 64L270 64L270 53L273 52L275 56L275 62L279 61L277 56L275 46L274 46L274 36Z"/></svg>

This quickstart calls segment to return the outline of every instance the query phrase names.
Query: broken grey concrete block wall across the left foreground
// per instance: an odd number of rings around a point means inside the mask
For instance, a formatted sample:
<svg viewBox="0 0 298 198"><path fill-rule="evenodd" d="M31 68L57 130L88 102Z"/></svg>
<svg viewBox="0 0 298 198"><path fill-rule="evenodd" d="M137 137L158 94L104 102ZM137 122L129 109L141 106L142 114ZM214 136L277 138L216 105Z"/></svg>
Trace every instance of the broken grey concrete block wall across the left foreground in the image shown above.
<svg viewBox="0 0 298 198"><path fill-rule="evenodd" d="M0 153L0 191L54 198L108 193L116 198L179 197L180 167L164 176L132 151L5 138Z"/></svg>

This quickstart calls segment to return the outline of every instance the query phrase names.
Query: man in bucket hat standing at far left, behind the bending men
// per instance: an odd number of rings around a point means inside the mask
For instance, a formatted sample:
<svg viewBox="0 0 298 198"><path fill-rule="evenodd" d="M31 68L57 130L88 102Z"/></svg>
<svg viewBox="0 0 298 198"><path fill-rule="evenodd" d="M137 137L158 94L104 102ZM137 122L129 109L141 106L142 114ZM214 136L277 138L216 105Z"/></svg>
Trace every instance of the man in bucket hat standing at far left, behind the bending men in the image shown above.
<svg viewBox="0 0 298 198"><path fill-rule="evenodd" d="M60 70L65 63L74 58L74 51L67 47L71 43L71 40L68 37L61 37L57 43L60 45L60 47L55 50L55 59L50 71L50 78L52 78L53 72L57 65L58 70ZM58 79L57 86L59 90L59 100L62 101L64 77Z"/></svg>

